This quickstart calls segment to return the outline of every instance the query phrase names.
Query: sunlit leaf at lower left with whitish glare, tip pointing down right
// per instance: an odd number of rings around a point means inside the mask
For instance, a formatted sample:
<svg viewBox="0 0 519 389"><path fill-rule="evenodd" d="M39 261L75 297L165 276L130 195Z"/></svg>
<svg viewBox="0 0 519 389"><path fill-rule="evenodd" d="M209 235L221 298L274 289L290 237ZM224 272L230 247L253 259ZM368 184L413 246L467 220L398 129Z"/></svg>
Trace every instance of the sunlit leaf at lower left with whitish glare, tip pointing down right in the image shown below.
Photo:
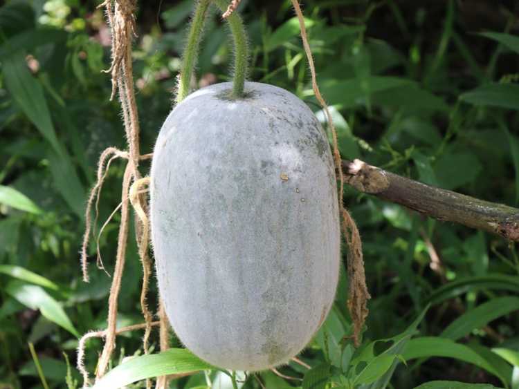
<svg viewBox="0 0 519 389"><path fill-rule="evenodd" d="M48 320L60 325L74 336L80 336L60 303L55 301L42 287L29 285L21 281L10 281L5 291L26 307L39 310Z"/></svg>

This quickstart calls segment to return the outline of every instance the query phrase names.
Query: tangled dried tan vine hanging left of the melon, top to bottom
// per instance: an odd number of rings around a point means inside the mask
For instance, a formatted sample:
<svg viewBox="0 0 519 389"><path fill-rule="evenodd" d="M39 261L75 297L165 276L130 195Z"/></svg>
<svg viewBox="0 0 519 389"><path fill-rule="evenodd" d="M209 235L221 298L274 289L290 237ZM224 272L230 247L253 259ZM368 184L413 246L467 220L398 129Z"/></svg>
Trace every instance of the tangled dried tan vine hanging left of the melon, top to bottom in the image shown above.
<svg viewBox="0 0 519 389"><path fill-rule="evenodd" d="M109 306L108 306L108 318L107 318L107 330L102 332L104 337L104 348L98 360L98 368L96 370L96 378L99 379L106 372L111 359L111 355L116 346L116 322L118 314L118 296L121 287L122 273L125 268L126 259L126 248L129 231L129 202L136 211L135 225L136 225L136 240L138 245L138 253L140 260L143 264L143 287L140 294L140 305L145 318L145 334L143 338L144 352L148 352L148 339L152 329L152 312L149 311L146 303L147 290L149 285L149 278L152 272L151 260L149 258L147 249L149 245L149 223L147 220L147 197L144 196L143 191L140 191L140 187L147 184L149 179L142 179L140 172L138 171L139 160L147 159L151 155L140 155L139 150L139 122L138 122L138 111L135 102L134 93L134 80L133 80L133 69L131 62L131 41L136 35L135 33L135 19L134 12L136 10L136 0L106 0L100 7L104 7L107 13L107 20L111 28L112 37L112 62L107 73L111 73L112 82L112 93L110 99L118 93L120 99L120 105L122 108L122 120L125 126L125 133L127 137L128 151L120 151L115 148L109 148L105 150L100 157L97 182L91 194L86 207L86 229L82 245L82 272L84 281L89 281L88 272L86 269L87 255L86 251L89 244L89 238L92 230L91 222L91 208L95 200L95 222L97 224L98 218L98 202L100 199L100 191L102 184L107 176L109 165L115 158L125 158L127 160L127 166L122 180L122 197L121 203L116 208L116 211L120 208L121 219L119 225L118 234L118 246L116 254L116 263L113 270L112 284L110 287L109 294ZM107 162L108 160L108 162ZM106 169L104 165L106 164ZM133 184L132 184L133 183ZM114 211L111 216L116 212ZM111 219L109 217L109 220ZM104 223L104 226L107 223ZM95 227L94 227L95 229ZM102 259L98 247L98 267L104 269L102 265ZM158 321L158 323L163 323ZM90 335L90 337L93 335ZM80 342L78 348L78 354L84 355L84 341ZM78 358L78 368L84 373L83 358ZM84 377L87 377L84 374ZM88 382L85 381L84 385ZM151 381L147 380L147 388L151 388Z"/></svg>

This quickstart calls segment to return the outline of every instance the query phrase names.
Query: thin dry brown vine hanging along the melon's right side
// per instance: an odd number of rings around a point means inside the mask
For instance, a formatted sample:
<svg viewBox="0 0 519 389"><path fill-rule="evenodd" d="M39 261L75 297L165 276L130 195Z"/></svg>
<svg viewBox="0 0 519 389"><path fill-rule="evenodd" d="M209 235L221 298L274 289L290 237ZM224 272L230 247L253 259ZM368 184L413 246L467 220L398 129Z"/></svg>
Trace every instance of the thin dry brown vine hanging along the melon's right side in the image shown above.
<svg viewBox="0 0 519 389"><path fill-rule="evenodd" d="M362 241L361 236L358 233L357 226L349 215L349 212L345 209L343 204L343 192L344 192L344 179L343 179L343 168L340 160L340 152L337 143L337 131L334 126L334 121L331 119L328 106L325 99L319 91L316 77L316 66L313 64L313 57L308 43L307 29L304 26L304 17L302 15L301 8L298 0L291 0L292 6L295 10L295 14L298 16L298 21L301 29L301 39L304 46L304 52L307 55L308 64L310 67L312 89L316 95L319 104L322 106L322 110L325 111L328 125L331 129L331 135L334 146L334 161L336 171L338 173L340 187L339 187L339 209L340 214L343 218L343 234L346 238L348 246L348 309L352 316L354 324L354 343L356 346L360 345L360 336L362 332L365 319L368 314L367 301L371 298L370 293L367 291L365 272L364 272L364 260L362 254Z"/></svg>

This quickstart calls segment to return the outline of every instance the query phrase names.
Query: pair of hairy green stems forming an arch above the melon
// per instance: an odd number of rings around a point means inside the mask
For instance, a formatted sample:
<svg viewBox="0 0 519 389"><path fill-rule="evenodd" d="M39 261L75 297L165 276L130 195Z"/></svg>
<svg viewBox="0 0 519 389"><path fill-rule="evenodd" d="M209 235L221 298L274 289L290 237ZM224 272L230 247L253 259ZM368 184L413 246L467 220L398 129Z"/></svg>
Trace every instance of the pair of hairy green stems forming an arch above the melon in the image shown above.
<svg viewBox="0 0 519 389"><path fill-rule="evenodd" d="M215 5L225 12L227 10L228 1L226 0L212 0ZM197 54L201 41L201 33L203 30L203 23L210 0L200 0L194 10L194 16L190 24L188 32L188 44L185 47L182 58L181 75L179 79L179 88L176 95L177 104L181 102L189 94L189 87L191 76L193 74L194 66L197 64ZM233 12L228 18L231 35L233 35L235 48L235 63L233 76L233 91L230 97L239 99L244 95L245 78L248 71L248 46L247 35L242 18L237 12Z"/></svg>

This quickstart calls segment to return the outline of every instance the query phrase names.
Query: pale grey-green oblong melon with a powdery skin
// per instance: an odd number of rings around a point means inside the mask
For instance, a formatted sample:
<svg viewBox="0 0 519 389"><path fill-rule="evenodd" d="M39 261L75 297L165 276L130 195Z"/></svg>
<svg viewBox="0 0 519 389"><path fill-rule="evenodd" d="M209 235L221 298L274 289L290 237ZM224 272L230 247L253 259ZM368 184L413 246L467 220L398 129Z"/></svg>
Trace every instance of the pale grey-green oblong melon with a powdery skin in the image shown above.
<svg viewBox="0 0 519 389"><path fill-rule="evenodd" d="M208 86L176 106L152 161L158 287L181 342L230 370L286 363L334 301L340 227L325 132L291 93ZM288 178L288 179L286 179Z"/></svg>

